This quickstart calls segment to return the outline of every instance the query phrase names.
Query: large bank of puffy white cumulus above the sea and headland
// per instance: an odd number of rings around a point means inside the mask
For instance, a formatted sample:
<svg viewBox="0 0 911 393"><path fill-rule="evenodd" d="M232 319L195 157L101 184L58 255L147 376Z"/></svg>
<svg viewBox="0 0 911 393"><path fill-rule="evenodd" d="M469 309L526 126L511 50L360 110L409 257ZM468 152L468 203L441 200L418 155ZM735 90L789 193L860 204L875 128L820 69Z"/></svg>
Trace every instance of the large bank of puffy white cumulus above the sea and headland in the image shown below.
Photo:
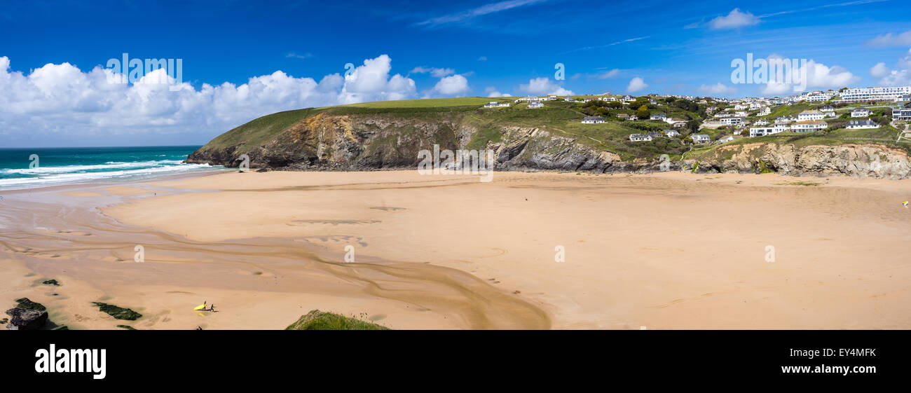
<svg viewBox="0 0 911 393"><path fill-rule="evenodd" d="M0 138L161 143L168 140L162 135L175 135L181 136L175 140L204 142L274 112L416 97L415 82L390 76L390 71L391 59L380 55L364 60L348 76L322 76L319 82L275 71L240 86L195 88L170 78L164 69L134 84L111 83L126 78L100 65L84 72L69 63L47 64L26 74L13 71L10 59L2 56ZM97 144L85 144L91 143Z"/></svg>

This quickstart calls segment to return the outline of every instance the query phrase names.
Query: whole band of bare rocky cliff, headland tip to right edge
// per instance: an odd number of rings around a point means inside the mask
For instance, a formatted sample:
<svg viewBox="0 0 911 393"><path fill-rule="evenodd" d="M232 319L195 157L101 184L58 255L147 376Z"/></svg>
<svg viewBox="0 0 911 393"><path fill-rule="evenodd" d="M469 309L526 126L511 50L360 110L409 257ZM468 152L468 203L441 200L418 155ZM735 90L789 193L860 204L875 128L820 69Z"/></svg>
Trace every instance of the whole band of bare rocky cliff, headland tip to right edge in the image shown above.
<svg viewBox="0 0 911 393"><path fill-rule="evenodd" d="M251 167L312 170L416 168L422 149L489 149L500 170L567 170L595 173L660 171L661 159L624 161L615 153L581 144L538 127L496 126L486 130L486 146L476 142L479 129L465 114L410 118L383 115L317 114L245 149ZM490 131L497 137L489 137ZM203 146L187 159L236 167L239 146ZM911 161L906 152L876 145L794 146L757 143L720 146L695 158L664 162L665 170L697 172L779 172L802 176L872 176L906 178Z"/></svg>

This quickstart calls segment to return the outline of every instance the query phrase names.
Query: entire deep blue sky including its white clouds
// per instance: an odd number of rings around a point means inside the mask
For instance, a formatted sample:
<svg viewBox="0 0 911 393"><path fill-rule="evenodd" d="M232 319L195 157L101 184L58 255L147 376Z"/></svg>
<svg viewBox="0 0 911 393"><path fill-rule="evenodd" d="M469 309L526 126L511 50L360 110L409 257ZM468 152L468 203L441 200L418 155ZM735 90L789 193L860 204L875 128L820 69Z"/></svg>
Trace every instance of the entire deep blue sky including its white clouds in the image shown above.
<svg viewBox="0 0 911 393"><path fill-rule="evenodd" d="M907 84L911 68L898 0L151 3L5 1L0 146L202 144L255 116L360 100L771 96L732 84L747 53L812 60L811 89ZM98 87L93 68L123 53L182 59L192 92Z"/></svg>

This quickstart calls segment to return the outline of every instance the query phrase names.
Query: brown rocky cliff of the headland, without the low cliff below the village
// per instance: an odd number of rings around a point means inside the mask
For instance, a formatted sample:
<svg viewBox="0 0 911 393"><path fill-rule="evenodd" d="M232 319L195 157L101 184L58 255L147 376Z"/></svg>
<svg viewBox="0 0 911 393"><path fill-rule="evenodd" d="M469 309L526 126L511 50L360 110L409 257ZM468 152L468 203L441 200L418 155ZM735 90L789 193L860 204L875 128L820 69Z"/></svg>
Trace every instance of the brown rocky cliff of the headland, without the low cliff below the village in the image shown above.
<svg viewBox="0 0 911 393"><path fill-rule="evenodd" d="M499 141L482 146L496 156L496 169L559 169L595 172L632 170L614 153L554 136L537 127L501 126ZM251 167L363 170L416 168L422 149L466 149L478 133L460 116L404 119L386 116L326 116L306 118L261 146L246 151ZM203 146L187 159L236 167L238 146Z"/></svg>

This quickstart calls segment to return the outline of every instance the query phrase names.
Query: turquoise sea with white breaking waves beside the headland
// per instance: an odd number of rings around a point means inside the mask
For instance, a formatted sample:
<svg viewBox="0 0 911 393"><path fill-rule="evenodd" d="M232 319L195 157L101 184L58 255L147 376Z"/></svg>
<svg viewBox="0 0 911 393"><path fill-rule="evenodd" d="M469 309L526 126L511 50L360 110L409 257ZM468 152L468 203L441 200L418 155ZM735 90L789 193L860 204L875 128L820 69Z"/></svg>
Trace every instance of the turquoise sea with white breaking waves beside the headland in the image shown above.
<svg viewBox="0 0 911 393"><path fill-rule="evenodd" d="M0 190L225 170L184 164L200 146L0 148Z"/></svg>

